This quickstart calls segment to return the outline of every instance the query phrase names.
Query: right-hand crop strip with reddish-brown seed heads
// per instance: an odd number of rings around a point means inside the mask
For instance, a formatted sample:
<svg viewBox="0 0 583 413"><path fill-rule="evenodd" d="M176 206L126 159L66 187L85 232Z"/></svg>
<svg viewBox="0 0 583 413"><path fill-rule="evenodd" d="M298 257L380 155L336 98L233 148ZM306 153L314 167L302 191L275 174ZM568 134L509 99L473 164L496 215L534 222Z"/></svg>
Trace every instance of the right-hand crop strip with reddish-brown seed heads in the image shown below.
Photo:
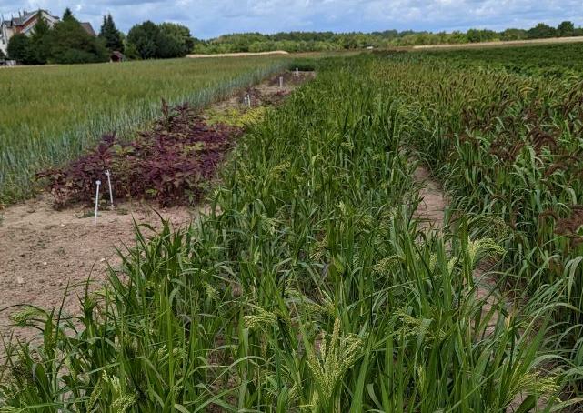
<svg viewBox="0 0 583 413"><path fill-rule="evenodd" d="M401 96L411 142L454 195L451 215L504 222L508 254L498 268L506 288L518 296L559 292L554 349L582 366L580 77L517 76L418 56L378 60L374 71L387 79L387 93Z"/></svg>

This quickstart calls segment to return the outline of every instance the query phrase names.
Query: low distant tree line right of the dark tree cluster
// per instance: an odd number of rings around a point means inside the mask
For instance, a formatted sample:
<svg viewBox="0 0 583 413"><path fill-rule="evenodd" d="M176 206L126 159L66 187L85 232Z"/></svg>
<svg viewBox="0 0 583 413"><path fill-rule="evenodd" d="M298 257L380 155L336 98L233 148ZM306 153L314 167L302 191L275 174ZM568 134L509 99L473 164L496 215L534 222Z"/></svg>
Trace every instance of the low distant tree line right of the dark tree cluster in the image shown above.
<svg viewBox="0 0 583 413"><path fill-rule="evenodd" d="M386 30L372 33L333 32L289 32L275 35L244 33L221 35L208 41L196 41L195 53L266 52L286 50L287 52L320 52L327 50L350 50L367 46L391 47L411 45L462 44L508 40L528 40L548 37L583 35L583 28L576 28L572 22L563 22L558 27L544 23L530 29L508 28L501 32L488 29L469 29L467 32L399 32Z"/></svg>

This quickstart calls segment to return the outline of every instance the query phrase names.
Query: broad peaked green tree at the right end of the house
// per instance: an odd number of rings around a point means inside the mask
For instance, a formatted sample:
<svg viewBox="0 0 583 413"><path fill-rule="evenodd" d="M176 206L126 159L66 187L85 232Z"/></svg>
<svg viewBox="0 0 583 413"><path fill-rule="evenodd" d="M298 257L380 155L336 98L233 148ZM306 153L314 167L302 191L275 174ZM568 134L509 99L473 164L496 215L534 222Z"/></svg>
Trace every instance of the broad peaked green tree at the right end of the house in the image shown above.
<svg viewBox="0 0 583 413"><path fill-rule="evenodd" d="M97 63L109 58L101 39L89 35L70 10L52 32L51 60L55 63Z"/></svg>

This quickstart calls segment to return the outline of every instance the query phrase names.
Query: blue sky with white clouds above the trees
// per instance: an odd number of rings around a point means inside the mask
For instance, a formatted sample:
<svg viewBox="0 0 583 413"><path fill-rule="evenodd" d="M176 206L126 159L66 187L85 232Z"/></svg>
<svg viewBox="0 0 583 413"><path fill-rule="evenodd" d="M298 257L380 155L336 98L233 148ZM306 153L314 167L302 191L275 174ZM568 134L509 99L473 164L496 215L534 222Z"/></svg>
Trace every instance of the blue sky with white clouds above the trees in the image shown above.
<svg viewBox="0 0 583 413"><path fill-rule="evenodd" d="M111 13L126 32L145 20L186 25L198 38L228 33L280 31L453 31L528 28L538 22L583 25L582 0L0 0L0 14L44 8L99 30Z"/></svg>

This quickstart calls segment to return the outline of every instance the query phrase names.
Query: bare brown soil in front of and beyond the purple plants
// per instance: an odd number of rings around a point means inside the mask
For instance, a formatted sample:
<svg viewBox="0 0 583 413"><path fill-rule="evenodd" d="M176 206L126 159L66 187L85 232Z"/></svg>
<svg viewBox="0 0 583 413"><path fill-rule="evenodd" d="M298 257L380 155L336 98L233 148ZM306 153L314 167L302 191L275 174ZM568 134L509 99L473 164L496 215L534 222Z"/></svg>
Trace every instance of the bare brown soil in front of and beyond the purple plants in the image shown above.
<svg viewBox="0 0 583 413"><path fill-rule="evenodd" d="M279 76L285 79L282 88ZM254 105L278 103L280 96L288 95L314 76L311 72L300 72L299 76L280 74L246 89L246 93L259 96ZM241 107L243 92L238 90L211 108ZM124 251L126 246L135 245L135 222L160 227L157 211L173 227L185 227L204 208L161 208L144 201L124 202L113 210L102 208L95 226L93 207L77 205L57 211L53 205L52 196L41 194L0 209L0 358L2 339L30 339L35 335L30 328L12 327L10 316L19 310L19 305L58 307L69 285L64 309L75 314L77 295L83 294L87 279L91 277L92 287L97 288L106 279L107 267L121 262L117 249ZM145 231L147 235L149 231Z"/></svg>

